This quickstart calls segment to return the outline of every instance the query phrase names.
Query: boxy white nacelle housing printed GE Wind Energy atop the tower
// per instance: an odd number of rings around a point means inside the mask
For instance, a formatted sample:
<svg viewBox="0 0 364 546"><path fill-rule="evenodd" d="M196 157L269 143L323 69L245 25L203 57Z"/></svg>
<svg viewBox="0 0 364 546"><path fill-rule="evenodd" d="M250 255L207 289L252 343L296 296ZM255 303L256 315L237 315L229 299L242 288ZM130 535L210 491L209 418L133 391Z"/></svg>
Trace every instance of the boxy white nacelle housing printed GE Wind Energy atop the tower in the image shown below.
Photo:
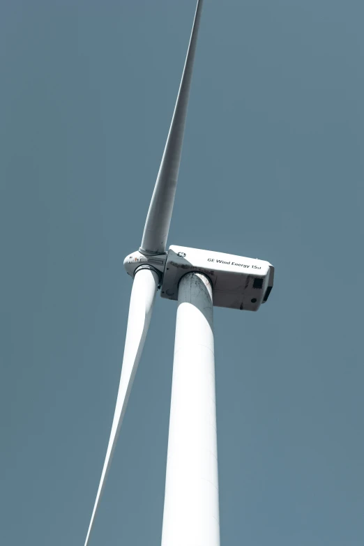
<svg viewBox="0 0 364 546"><path fill-rule="evenodd" d="M273 287L274 268L268 261L171 245L161 296L178 298L179 281L191 271L204 273L213 287L213 305L257 311Z"/></svg>

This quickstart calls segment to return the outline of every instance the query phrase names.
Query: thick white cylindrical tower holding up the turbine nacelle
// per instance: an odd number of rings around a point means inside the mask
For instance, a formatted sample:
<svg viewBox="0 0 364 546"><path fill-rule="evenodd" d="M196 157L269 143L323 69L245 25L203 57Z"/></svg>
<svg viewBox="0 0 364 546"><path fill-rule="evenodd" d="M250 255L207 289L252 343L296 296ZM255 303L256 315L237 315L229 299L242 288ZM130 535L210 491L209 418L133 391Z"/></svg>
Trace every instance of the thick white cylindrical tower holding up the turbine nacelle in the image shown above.
<svg viewBox="0 0 364 546"><path fill-rule="evenodd" d="M211 282L179 283L162 546L220 546Z"/></svg>

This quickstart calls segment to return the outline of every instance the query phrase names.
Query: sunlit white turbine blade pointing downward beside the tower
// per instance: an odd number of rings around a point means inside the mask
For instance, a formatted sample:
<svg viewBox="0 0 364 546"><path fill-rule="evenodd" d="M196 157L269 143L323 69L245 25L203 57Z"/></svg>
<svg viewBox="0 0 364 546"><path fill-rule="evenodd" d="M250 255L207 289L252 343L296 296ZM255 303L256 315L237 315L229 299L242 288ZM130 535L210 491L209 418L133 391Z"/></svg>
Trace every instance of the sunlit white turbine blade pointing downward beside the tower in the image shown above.
<svg viewBox="0 0 364 546"><path fill-rule="evenodd" d="M128 404L132 382L134 381L135 372L137 371L139 359L144 347L146 333L151 321L151 314L153 304L156 299L158 283L158 273L156 273L156 271L152 271L150 268L144 268L137 271L132 285L128 328L126 331L126 342L123 356L123 367L121 369L121 378L118 397L116 400L114 420L112 421L112 430L110 433L109 445L107 446L103 472L101 473L98 493L96 495L95 505L93 506L89 531L87 531L84 546L89 544L93 522L98 510L101 495L103 494L107 471L109 470L109 466L112 461L112 455L116 446L119 429L126 411L126 404Z"/></svg>

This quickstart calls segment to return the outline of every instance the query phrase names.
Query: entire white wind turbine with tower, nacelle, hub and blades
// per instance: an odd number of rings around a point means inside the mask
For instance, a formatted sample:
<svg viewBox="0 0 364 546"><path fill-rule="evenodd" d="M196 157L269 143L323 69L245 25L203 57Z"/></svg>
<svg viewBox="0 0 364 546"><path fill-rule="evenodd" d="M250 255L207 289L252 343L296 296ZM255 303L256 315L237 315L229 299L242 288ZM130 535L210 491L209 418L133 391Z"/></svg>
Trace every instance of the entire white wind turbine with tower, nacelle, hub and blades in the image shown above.
<svg viewBox="0 0 364 546"><path fill-rule="evenodd" d="M134 278L114 420L93 523L142 355L156 292L178 300L162 546L219 546L218 450L215 409L213 305L259 309L273 287L268 261L181 246L166 252L203 0L195 19L165 151L144 226L142 244L124 266Z"/></svg>

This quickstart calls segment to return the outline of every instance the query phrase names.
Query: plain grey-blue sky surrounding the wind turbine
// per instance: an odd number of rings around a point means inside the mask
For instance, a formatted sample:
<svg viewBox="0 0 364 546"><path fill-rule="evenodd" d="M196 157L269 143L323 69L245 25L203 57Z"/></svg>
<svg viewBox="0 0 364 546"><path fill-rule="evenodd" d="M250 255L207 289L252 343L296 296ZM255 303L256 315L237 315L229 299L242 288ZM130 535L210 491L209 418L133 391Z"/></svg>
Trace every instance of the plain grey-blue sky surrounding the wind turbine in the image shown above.
<svg viewBox="0 0 364 546"><path fill-rule="evenodd" d="M1 524L83 545L195 0L3 0ZM206 0L169 244L275 265L215 309L223 546L363 546L363 1ZM158 296L91 545L160 545Z"/></svg>

